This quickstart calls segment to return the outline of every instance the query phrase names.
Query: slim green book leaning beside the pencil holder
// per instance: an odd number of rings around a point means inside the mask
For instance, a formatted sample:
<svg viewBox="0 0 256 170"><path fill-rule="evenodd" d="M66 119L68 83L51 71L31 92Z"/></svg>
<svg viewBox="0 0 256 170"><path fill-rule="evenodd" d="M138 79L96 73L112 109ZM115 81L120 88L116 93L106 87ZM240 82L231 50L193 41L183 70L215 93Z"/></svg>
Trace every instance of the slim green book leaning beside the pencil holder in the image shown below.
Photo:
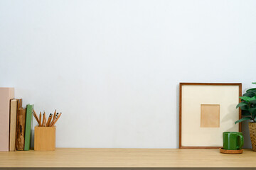
<svg viewBox="0 0 256 170"><path fill-rule="evenodd" d="M30 149L32 110L33 110L33 105L28 104L27 107L26 107L26 125L25 125L24 150L29 150Z"/></svg>

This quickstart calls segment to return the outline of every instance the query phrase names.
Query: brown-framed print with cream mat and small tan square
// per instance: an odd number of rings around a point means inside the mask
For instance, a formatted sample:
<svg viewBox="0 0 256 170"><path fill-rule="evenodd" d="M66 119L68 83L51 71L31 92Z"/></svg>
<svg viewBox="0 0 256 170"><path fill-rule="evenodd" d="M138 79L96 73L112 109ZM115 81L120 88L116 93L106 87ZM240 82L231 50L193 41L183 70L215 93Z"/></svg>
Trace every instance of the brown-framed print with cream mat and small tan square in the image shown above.
<svg viewBox="0 0 256 170"><path fill-rule="evenodd" d="M179 148L220 148L223 132L240 132L242 84L180 83Z"/></svg>

